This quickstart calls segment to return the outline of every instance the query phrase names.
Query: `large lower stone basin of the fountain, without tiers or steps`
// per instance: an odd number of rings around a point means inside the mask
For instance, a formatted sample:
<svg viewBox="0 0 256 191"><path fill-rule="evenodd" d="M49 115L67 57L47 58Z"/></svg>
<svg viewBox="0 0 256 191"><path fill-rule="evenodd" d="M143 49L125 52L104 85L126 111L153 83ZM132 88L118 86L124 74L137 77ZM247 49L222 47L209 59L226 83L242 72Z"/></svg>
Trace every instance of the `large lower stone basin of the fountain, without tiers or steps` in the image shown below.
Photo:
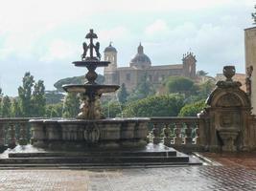
<svg viewBox="0 0 256 191"><path fill-rule="evenodd" d="M32 144L54 150L141 148L149 118L32 119Z"/></svg>

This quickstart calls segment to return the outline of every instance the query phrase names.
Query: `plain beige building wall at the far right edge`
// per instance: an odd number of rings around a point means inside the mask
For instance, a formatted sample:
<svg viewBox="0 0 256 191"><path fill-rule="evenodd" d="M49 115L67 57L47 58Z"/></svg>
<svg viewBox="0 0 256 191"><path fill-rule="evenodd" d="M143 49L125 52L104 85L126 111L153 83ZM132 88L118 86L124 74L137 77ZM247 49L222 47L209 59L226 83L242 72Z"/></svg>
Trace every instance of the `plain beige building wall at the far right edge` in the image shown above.
<svg viewBox="0 0 256 191"><path fill-rule="evenodd" d="M252 114L256 115L256 27L244 30L246 92L250 96Z"/></svg>

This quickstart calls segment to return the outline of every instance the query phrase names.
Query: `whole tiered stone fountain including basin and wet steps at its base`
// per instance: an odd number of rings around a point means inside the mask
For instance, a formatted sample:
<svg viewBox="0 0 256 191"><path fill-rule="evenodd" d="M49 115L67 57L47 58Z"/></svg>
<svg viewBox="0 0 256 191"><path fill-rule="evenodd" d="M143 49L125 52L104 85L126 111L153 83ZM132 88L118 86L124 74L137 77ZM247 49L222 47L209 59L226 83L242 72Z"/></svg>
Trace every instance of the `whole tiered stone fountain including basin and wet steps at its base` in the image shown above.
<svg viewBox="0 0 256 191"><path fill-rule="evenodd" d="M80 94L80 114L77 118L30 120L35 151L9 153L0 163L12 167L201 164L163 144L148 143L149 118L105 118L101 114L101 96L119 86L95 82L97 67L109 62L101 61L100 43L94 44L97 35L93 30L85 38L89 44L83 43L81 61L73 64L87 68L87 82L63 86L68 93Z"/></svg>

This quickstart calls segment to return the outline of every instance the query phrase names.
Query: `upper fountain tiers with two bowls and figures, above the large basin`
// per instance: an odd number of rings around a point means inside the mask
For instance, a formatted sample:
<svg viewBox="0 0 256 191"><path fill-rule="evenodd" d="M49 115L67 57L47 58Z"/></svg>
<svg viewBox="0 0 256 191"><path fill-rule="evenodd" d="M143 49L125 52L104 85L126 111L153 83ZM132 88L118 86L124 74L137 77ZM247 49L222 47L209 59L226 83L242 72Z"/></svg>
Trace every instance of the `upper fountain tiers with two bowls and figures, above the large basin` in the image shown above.
<svg viewBox="0 0 256 191"><path fill-rule="evenodd" d="M119 89L118 85L100 85L95 82L98 74L95 72L97 67L105 67L110 62L101 61L100 43L93 44L93 39L98 38L97 34L90 30L85 38L89 39L89 44L83 42L83 53L81 61L75 61L73 64L78 67L86 67L88 73L85 74L87 82L85 84L68 84L62 88L69 93L80 93L81 113L77 118L80 119L100 119L102 115L100 98L104 93L112 93ZM87 52L89 51L88 55Z"/></svg>

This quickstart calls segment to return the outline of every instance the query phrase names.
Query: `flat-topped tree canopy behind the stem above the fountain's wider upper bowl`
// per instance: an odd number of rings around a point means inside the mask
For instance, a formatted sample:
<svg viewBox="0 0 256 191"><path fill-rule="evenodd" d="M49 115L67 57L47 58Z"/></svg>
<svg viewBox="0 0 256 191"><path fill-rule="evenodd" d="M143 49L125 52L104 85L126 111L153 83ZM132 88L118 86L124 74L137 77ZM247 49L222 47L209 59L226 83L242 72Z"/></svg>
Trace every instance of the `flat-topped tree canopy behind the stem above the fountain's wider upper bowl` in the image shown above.
<svg viewBox="0 0 256 191"><path fill-rule="evenodd" d="M98 74L98 78L96 82L98 84L104 84L105 77L102 74ZM63 79L59 79L54 86L58 90L58 92L64 92L62 89L62 85L64 84L83 84L85 82L85 77L84 75L81 76L74 76L74 77L66 77Z"/></svg>

